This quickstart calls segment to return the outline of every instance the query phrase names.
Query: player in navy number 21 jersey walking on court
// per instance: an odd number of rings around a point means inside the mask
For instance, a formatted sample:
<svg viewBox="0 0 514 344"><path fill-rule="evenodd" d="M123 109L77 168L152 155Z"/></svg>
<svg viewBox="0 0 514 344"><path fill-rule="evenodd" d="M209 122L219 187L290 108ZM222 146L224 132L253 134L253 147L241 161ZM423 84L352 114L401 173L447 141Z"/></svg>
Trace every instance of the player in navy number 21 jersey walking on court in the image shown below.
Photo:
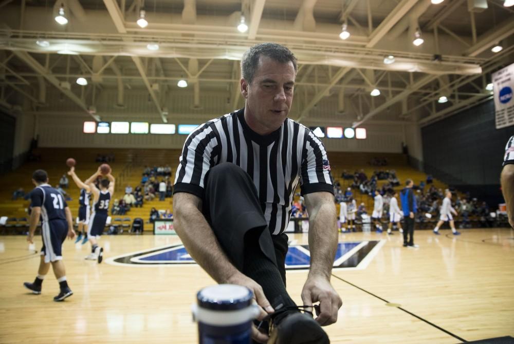
<svg viewBox="0 0 514 344"><path fill-rule="evenodd" d="M33 294L41 294L41 285L51 264L60 289L59 295L54 297L53 301L63 301L73 295L66 280L66 271L61 253L66 236L70 239L75 237L71 211L63 196L48 184L46 171L35 170L32 174L32 183L34 183L35 188L30 192L32 211L30 213L27 241L30 244L34 243L34 231L38 227L41 216L43 248L41 249L38 276L33 283L25 282L23 285L31 290Z"/></svg>

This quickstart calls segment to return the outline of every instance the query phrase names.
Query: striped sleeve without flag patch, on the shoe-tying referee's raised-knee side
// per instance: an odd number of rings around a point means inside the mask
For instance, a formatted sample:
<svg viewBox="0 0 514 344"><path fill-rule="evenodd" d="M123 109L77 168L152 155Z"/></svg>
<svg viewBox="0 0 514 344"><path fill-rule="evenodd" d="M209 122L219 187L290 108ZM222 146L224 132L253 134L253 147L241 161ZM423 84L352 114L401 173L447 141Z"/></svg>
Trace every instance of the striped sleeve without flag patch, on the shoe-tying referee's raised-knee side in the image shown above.
<svg viewBox="0 0 514 344"><path fill-rule="evenodd" d="M218 147L214 125L207 123L189 134L179 158L173 194L187 192L198 197L204 194L207 171L215 165Z"/></svg>

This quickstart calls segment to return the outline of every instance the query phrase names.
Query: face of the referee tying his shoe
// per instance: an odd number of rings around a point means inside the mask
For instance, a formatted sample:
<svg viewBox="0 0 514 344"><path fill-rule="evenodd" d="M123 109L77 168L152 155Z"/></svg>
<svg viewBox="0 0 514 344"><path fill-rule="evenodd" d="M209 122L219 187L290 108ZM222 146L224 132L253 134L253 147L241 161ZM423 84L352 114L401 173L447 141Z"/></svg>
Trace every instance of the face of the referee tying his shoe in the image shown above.
<svg viewBox="0 0 514 344"><path fill-rule="evenodd" d="M255 132L266 135L284 123L291 109L295 67L261 56L251 84L241 80L241 93L246 99L245 120Z"/></svg>

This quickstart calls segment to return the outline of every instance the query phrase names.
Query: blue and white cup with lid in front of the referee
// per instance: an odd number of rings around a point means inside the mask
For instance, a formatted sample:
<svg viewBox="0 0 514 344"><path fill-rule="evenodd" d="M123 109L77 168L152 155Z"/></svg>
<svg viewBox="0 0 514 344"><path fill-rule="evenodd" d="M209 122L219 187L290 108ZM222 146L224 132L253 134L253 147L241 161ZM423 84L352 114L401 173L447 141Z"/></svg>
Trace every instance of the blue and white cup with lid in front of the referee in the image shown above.
<svg viewBox="0 0 514 344"><path fill-rule="evenodd" d="M249 344L252 320L259 315L253 293L234 284L213 285L198 291L193 317L200 344Z"/></svg>

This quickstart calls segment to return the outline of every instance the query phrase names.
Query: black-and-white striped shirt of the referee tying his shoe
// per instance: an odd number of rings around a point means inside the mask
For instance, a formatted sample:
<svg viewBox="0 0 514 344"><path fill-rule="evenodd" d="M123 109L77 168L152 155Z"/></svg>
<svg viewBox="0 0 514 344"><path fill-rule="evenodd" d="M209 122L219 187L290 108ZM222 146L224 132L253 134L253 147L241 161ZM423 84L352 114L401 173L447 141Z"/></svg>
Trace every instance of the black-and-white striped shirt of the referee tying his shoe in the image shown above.
<svg viewBox="0 0 514 344"><path fill-rule="evenodd" d="M272 234L287 227L298 182L302 195L334 193L325 147L312 131L289 118L266 136L248 127L244 109L213 119L189 134L179 161L173 192L200 198L211 167L223 162L240 166L255 184Z"/></svg>

